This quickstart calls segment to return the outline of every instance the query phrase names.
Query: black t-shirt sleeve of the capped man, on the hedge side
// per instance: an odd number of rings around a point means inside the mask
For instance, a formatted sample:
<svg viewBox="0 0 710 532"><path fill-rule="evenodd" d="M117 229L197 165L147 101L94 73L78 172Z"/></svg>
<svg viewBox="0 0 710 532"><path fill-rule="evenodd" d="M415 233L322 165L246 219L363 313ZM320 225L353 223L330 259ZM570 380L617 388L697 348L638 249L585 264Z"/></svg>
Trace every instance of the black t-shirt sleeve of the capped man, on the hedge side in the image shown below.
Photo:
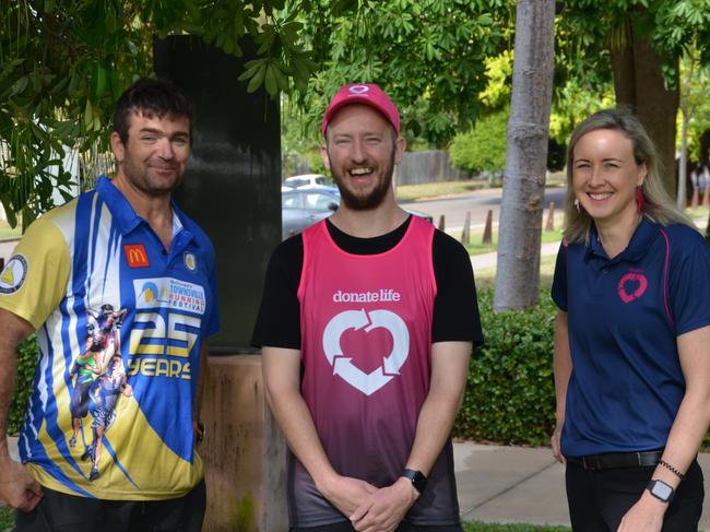
<svg viewBox="0 0 710 532"><path fill-rule="evenodd" d="M473 268L468 251L454 238L436 230L433 243L437 295L431 342L483 343Z"/></svg>

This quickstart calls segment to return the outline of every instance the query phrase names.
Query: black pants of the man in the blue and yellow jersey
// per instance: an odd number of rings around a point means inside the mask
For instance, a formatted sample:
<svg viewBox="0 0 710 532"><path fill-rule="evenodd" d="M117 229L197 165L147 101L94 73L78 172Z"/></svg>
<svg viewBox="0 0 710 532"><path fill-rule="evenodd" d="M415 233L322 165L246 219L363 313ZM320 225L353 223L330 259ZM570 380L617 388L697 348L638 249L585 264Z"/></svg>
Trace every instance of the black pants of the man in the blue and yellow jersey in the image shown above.
<svg viewBox="0 0 710 532"><path fill-rule="evenodd" d="M200 532L206 504L204 482L167 500L98 500L43 487L29 513L16 513L16 532Z"/></svg>

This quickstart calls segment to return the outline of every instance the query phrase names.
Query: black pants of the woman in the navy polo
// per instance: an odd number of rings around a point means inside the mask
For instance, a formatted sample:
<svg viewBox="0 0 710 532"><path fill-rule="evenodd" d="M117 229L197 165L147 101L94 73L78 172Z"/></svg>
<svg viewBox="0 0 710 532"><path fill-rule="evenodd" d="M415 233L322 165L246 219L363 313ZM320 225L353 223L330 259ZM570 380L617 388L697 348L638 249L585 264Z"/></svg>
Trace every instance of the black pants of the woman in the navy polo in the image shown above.
<svg viewBox="0 0 710 532"><path fill-rule="evenodd" d="M616 532L624 515L643 494L655 466L587 471L567 462L565 480L575 532ZM702 513L702 470L690 464L663 519L664 532L697 532Z"/></svg>

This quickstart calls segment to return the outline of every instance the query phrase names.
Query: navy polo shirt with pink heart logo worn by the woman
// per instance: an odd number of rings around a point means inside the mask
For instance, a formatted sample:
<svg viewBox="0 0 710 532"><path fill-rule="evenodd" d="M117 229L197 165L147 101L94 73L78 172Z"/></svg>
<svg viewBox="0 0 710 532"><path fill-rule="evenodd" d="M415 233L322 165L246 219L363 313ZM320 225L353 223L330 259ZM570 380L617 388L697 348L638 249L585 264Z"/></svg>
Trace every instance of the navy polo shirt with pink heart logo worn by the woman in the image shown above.
<svg viewBox="0 0 710 532"><path fill-rule="evenodd" d="M662 448L685 393L676 336L710 324L710 247L646 218L614 259L590 240L560 247L553 282L573 366L563 454Z"/></svg>

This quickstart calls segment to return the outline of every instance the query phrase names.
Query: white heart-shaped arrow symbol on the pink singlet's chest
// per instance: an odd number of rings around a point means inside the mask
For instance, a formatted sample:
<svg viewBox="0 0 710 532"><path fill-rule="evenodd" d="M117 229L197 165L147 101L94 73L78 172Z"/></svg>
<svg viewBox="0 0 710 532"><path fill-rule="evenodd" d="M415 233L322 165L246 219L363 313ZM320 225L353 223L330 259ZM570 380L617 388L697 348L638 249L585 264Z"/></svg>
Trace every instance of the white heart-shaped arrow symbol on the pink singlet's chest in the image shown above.
<svg viewBox="0 0 710 532"><path fill-rule="evenodd" d="M392 351L382 358L382 365L366 374L353 364L353 358L343 355L340 339L345 331L365 328L366 332L383 327L392 335ZM335 315L323 331L323 351L333 375L340 376L353 388L371 395L397 375L410 354L410 331L404 320L389 310L345 310Z"/></svg>

